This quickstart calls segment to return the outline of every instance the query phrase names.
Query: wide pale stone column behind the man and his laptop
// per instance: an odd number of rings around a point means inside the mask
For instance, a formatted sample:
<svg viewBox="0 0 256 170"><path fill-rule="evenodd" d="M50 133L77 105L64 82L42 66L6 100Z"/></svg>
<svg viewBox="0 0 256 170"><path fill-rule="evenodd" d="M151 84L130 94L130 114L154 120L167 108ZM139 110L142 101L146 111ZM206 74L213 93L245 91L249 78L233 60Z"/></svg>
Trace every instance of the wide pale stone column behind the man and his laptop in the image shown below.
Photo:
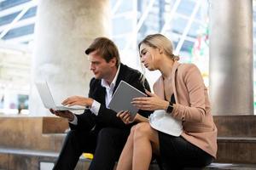
<svg viewBox="0 0 256 170"><path fill-rule="evenodd" d="M84 54L96 37L108 37L108 0L40 0L32 58L30 115L49 111L35 87L46 80L56 104L70 95L88 95L90 63Z"/></svg>

